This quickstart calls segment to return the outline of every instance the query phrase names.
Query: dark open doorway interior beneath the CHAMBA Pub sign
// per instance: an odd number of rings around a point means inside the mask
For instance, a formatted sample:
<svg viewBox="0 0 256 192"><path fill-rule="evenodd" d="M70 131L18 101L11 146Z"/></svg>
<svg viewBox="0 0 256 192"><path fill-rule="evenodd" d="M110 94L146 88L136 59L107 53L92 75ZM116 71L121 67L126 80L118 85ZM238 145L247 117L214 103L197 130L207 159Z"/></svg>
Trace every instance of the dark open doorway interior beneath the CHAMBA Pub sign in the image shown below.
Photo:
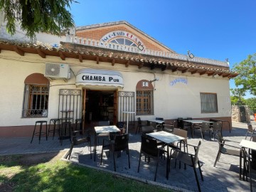
<svg viewBox="0 0 256 192"><path fill-rule="evenodd" d="M87 122L110 121L113 124L114 91L87 90L86 92Z"/></svg>

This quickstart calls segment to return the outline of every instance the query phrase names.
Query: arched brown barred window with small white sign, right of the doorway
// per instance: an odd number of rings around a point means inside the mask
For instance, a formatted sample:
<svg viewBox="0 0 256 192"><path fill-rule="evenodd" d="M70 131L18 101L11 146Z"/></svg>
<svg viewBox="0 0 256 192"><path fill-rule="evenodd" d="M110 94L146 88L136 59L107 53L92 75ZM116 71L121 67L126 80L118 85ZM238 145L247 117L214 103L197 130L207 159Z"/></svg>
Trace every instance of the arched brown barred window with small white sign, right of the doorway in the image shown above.
<svg viewBox="0 0 256 192"><path fill-rule="evenodd" d="M136 91L136 113L154 114L153 108L153 86L147 80L141 80L137 84Z"/></svg>

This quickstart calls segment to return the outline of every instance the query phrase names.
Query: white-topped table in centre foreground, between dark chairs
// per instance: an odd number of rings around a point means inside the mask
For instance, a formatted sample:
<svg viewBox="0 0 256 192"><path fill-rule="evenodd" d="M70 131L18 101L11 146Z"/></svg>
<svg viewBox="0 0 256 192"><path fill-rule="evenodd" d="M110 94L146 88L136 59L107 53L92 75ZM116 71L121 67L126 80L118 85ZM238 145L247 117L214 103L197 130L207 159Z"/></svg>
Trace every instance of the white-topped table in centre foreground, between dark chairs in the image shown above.
<svg viewBox="0 0 256 192"><path fill-rule="evenodd" d="M180 137L176 134L171 134L169 132L152 132L149 134L146 134L154 139L159 140L160 142L164 142L167 145L167 163L166 163L166 178L169 178L169 144L173 142L179 142L183 139L184 137Z"/></svg>

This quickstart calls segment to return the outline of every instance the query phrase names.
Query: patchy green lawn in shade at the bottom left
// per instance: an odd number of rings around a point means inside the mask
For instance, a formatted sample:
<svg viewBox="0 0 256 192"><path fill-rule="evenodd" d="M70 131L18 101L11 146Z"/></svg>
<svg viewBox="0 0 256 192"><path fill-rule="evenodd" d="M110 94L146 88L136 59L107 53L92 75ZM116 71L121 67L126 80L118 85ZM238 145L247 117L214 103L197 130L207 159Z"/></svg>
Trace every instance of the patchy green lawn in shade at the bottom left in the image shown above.
<svg viewBox="0 0 256 192"><path fill-rule="evenodd" d="M0 156L0 191L167 191L60 160Z"/></svg>

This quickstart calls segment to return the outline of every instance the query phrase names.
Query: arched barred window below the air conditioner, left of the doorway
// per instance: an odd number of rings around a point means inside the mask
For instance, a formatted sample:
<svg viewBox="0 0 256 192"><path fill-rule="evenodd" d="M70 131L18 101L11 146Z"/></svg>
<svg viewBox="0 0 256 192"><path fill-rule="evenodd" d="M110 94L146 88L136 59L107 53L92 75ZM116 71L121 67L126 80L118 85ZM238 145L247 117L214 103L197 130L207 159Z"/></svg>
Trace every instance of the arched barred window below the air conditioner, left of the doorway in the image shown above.
<svg viewBox="0 0 256 192"><path fill-rule="evenodd" d="M45 80L44 77L42 78L41 75L34 73L25 80L22 117L48 116L49 85L48 80Z"/></svg>

